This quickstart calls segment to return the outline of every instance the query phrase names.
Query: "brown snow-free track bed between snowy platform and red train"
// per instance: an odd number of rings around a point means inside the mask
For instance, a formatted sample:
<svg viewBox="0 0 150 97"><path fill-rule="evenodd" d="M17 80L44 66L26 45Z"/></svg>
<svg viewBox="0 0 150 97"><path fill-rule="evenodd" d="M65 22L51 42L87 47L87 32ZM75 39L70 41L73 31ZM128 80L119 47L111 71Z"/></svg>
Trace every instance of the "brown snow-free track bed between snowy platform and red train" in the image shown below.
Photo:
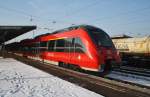
<svg viewBox="0 0 150 97"><path fill-rule="evenodd" d="M150 97L150 89L84 74L13 55L13 58L106 97Z"/></svg>

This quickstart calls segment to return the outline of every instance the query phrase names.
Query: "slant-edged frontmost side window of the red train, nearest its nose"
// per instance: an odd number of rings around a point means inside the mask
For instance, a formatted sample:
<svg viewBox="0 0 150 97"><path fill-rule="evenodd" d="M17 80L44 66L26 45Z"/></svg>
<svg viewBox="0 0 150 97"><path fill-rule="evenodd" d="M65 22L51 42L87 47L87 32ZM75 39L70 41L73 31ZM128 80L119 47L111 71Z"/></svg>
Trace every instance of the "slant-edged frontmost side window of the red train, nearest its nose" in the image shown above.
<svg viewBox="0 0 150 97"><path fill-rule="evenodd" d="M75 52L84 53L85 47L80 38L75 38Z"/></svg>

